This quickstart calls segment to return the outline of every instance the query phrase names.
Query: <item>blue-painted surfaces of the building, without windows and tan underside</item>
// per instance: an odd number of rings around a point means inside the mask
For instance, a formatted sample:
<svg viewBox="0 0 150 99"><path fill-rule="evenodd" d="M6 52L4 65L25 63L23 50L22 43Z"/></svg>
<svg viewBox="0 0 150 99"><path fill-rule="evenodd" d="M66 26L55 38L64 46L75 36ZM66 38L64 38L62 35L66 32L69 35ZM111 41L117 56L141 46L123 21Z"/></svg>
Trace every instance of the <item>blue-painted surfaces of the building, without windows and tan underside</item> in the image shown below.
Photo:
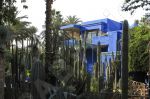
<svg viewBox="0 0 150 99"><path fill-rule="evenodd" d="M122 34L122 23L121 22L116 22L111 19L100 19L100 20L94 20L94 21L88 21L88 22L83 22L81 25L67 25L67 26L62 26L61 29L67 30L69 28L78 28L80 29L80 34L81 39L84 40L83 35L86 33L86 31L90 30L99 30L104 33L106 33L106 36L95 36L92 38L91 42L91 48L87 48L86 51L86 64L87 64L87 71L92 72L93 70L93 65L96 62L96 52L92 50L93 45L98 45L98 42L100 42L101 45L105 45L107 48L105 48L105 53L102 53L101 55L101 62L106 63L109 62L110 59L112 59L112 52L114 52L114 55L117 50L121 49L121 46L118 46L117 49L117 44L119 44L120 39L121 39L121 34ZM76 44L75 42L70 42ZM106 64L104 64L104 68ZM104 69L105 72L105 69Z"/></svg>

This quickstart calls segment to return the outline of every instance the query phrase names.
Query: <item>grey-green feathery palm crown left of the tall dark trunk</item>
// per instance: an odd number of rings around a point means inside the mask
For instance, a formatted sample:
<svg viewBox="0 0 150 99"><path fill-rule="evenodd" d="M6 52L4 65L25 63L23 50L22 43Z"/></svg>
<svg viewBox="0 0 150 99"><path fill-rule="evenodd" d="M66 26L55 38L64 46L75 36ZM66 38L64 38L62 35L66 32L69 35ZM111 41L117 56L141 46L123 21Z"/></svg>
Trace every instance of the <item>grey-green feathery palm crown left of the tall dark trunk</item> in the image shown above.
<svg viewBox="0 0 150 99"><path fill-rule="evenodd" d="M34 40L33 37L37 29L34 26L29 26L29 22L24 22L24 21L18 21L16 25L11 26L10 28L12 32L11 41L13 42L15 40L16 46L18 45L18 42L21 42L22 44L21 57L23 57L24 40L30 39L30 41L32 42ZM22 59L20 59L20 61L21 60Z"/></svg>

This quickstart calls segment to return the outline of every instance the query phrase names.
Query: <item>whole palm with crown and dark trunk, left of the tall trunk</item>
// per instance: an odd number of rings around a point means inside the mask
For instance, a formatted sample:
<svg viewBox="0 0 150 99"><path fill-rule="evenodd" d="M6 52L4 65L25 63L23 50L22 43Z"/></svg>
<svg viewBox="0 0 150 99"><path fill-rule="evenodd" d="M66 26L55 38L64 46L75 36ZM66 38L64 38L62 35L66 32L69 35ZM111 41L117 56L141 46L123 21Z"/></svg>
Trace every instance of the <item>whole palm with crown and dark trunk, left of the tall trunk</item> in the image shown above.
<svg viewBox="0 0 150 99"><path fill-rule="evenodd" d="M20 74L21 74L21 66L22 66L22 60L24 58L24 40L27 39L32 39L33 35L36 33L37 29L34 26L29 26L30 22L26 22L26 21L21 21L21 19L26 18L26 16L23 17L17 17L16 18L16 24L9 25L9 29L11 31L11 35L10 35L10 44L12 45L12 42L15 41L15 46L16 46L16 50L15 50L15 54L12 55L12 62L11 62L11 68L12 68L12 76L13 78L15 78L15 82L19 82L20 81ZM19 54L18 51L18 43L21 43L21 53ZM8 46L10 47L10 46ZM28 47L28 46L27 46ZM12 47L13 49L13 47ZM13 53L13 52L12 52ZM28 56L26 54L26 56ZM20 57L20 58L19 58ZM19 59L18 59L19 58ZM23 63L25 64L25 63ZM15 83L14 82L14 83ZM20 84L20 83L17 83ZM17 85L16 84L16 85ZM18 86L15 86L15 96L17 96L17 89Z"/></svg>

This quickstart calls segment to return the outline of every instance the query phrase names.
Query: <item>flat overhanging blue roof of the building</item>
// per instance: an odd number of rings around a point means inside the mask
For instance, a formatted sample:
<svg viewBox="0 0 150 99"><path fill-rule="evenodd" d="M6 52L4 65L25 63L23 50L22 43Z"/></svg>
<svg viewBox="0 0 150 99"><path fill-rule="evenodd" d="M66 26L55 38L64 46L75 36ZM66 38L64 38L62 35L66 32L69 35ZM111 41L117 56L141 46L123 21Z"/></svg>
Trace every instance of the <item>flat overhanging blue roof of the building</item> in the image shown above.
<svg viewBox="0 0 150 99"><path fill-rule="evenodd" d="M122 30L122 23L111 20L109 18L105 18L105 19L83 22L81 25L69 24L69 25L62 26L60 29L62 30L74 29L80 31L99 29L102 32L109 32L109 31Z"/></svg>

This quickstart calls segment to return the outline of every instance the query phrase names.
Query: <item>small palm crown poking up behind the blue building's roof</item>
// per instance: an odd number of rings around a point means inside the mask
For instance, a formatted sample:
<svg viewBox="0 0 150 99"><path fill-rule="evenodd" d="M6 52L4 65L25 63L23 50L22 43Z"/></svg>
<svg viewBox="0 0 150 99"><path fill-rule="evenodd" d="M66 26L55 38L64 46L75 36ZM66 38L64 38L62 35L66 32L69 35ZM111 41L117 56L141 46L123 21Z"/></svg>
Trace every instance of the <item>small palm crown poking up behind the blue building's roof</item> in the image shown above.
<svg viewBox="0 0 150 99"><path fill-rule="evenodd" d="M82 21L74 15L74 16L67 16L65 21L64 21L64 24L65 25L77 24L77 23L80 23L80 22L82 22Z"/></svg>

